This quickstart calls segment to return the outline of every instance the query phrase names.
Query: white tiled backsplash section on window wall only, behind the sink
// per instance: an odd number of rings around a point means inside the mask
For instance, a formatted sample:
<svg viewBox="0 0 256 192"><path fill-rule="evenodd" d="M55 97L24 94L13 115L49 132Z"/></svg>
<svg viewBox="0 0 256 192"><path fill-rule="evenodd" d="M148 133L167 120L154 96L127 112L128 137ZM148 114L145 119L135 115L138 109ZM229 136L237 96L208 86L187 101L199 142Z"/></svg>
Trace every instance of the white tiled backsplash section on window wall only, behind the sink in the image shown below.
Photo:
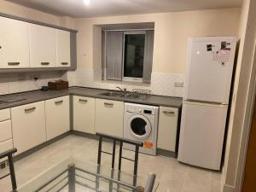
<svg viewBox="0 0 256 192"><path fill-rule="evenodd" d="M152 73L151 84L124 83L119 81L102 81L102 70L78 68L75 72L67 72L63 76L70 85L116 90L116 86L132 89L147 89L160 96L183 96L183 74Z"/></svg>

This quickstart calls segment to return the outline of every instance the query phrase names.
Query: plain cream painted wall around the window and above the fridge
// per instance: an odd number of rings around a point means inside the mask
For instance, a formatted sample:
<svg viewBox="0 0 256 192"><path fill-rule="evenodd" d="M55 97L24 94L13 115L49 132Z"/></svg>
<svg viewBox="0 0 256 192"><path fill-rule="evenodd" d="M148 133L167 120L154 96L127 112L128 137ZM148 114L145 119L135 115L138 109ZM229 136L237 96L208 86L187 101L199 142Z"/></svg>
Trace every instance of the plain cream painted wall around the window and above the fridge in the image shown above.
<svg viewBox="0 0 256 192"><path fill-rule="evenodd" d="M188 38L236 36L239 16L240 9L212 9L75 19L74 27L79 30L78 67L93 68L93 26L154 22L153 72L184 73Z"/></svg>

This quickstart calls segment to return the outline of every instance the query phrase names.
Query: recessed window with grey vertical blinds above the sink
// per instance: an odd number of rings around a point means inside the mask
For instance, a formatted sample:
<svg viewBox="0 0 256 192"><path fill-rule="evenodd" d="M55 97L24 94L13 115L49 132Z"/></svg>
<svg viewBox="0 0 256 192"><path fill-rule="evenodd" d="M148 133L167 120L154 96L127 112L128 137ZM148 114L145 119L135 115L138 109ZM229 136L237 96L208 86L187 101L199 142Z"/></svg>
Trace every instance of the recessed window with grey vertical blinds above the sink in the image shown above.
<svg viewBox="0 0 256 192"><path fill-rule="evenodd" d="M102 34L104 79L150 83L154 30Z"/></svg>

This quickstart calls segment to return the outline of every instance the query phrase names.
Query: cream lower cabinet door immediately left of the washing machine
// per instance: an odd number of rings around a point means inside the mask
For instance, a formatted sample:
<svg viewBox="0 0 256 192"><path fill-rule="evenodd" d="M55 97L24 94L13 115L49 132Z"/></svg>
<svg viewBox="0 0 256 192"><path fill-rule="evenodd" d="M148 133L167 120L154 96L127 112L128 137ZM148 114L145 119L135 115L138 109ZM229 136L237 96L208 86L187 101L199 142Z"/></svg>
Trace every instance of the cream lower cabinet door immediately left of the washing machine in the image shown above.
<svg viewBox="0 0 256 192"><path fill-rule="evenodd" d="M96 132L123 137L124 102L96 99Z"/></svg>

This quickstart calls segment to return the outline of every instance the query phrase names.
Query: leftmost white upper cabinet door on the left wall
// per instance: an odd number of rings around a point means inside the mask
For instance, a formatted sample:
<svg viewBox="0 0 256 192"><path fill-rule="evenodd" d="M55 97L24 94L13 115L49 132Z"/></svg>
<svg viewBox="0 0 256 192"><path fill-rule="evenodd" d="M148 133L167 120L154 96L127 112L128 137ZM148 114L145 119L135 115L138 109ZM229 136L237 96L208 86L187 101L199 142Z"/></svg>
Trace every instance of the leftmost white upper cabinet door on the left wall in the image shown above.
<svg viewBox="0 0 256 192"><path fill-rule="evenodd" d="M0 68L30 67L28 24L0 17Z"/></svg>

